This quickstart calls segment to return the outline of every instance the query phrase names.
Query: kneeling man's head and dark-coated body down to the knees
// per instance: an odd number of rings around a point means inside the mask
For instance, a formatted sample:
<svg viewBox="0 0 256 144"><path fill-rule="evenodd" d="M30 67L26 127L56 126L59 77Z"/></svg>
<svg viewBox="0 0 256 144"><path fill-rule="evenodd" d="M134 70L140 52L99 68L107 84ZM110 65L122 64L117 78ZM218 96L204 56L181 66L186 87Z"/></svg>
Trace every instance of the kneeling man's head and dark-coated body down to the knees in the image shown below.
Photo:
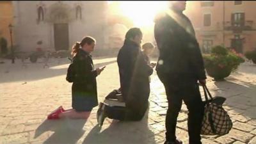
<svg viewBox="0 0 256 144"><path fill-rule="evenodd" d="M127 109L125 119L128 120L141 120L148 108L148 76L152 74L153 68L143 57L141 39L142 33L139 28L129 29L117 56L121 92Z"/></svg>

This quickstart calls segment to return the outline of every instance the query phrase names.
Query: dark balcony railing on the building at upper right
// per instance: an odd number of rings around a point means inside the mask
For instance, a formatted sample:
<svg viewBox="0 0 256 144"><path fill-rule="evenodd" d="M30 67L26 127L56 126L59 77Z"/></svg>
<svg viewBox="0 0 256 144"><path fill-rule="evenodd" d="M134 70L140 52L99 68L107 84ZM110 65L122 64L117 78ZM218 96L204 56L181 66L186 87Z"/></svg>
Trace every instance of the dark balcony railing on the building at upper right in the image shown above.
<svg viewBox="0 0 256 144"><path fill-rule="evenodd" d="M227 31L241 32L241 31L252 31L255 29L255 22L253 20L246 20L242 22L225 22L224 26Z"/></svg>

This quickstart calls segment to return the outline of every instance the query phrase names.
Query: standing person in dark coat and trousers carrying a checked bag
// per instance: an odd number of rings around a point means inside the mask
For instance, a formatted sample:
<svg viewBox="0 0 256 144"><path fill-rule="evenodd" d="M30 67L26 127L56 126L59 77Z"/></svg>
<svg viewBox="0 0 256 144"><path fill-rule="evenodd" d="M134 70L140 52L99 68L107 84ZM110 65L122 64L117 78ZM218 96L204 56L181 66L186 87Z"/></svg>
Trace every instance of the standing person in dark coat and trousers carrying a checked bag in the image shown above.
<svg viewBox="0 0 256 144"><path fill-rule="evenodd" d="M205 68L193 26L182 13L185 9L186 1L170 1L170 8L155 19L154 35L159 49L156 70L168 99L164 144L182 143L175 136L182 100L189 111L189 144L202 144L204 104L197 81L205 84Z"/></svg>

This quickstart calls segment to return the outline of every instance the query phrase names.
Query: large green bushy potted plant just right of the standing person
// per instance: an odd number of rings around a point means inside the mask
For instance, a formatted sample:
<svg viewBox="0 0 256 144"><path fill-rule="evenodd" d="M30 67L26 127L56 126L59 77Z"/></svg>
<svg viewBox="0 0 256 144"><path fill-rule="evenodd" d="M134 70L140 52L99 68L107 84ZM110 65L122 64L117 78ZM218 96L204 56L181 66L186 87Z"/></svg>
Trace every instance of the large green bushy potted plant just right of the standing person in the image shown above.
<svg viewBox="0 0 256 144"><path fill-rule="evenodd" d="M241 54L220 45L212 47L211 54L205 54L203 58L207 74L216 81L224 80L244 62Z"/></svg>

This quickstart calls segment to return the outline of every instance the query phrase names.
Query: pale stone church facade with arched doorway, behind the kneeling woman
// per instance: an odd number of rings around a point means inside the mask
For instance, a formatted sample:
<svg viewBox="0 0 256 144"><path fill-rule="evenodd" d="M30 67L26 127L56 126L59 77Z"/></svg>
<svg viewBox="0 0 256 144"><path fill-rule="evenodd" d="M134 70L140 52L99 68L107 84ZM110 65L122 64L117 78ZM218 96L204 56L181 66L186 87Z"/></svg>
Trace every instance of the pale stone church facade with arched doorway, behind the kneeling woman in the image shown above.
<svg viewBox="0 0 256 144"><path fill-rule="evenodd" d="M67 51L83 36L108 45L107 1L12 1L15 45L20 51Z"/></svg>

